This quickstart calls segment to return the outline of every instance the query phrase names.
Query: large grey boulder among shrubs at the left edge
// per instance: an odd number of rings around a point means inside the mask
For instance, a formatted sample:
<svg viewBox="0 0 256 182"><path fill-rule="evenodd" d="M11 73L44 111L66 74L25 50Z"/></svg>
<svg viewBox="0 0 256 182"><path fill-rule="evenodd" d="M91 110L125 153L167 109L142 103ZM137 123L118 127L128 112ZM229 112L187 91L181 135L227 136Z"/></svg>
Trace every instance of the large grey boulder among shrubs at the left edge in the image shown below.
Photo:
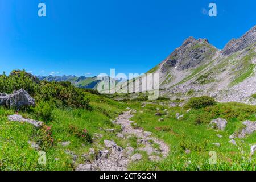
<svg viewBox="0 0 256 182"><path fill-rule="evenodd" d="M0 105L9 108L20 109L27 106L35 106L35 100L26 90L14 90L12 94L0 93Z"/></svg>

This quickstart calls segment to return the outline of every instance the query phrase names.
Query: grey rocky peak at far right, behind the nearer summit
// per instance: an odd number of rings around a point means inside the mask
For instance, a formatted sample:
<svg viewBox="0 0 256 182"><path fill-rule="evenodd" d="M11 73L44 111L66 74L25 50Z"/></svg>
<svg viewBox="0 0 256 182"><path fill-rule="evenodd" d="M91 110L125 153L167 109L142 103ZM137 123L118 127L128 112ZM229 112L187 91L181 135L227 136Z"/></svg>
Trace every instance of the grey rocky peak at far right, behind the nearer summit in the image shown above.
<svg viewBox="0 0 256 182"><path fill-rule="evenodd" d="M256 43L256 26L246 32L245 35L238 39L232 39L226 44L224 49L221 51L223 55L230 55L234 52L241 51L251 44Z"/></svg>

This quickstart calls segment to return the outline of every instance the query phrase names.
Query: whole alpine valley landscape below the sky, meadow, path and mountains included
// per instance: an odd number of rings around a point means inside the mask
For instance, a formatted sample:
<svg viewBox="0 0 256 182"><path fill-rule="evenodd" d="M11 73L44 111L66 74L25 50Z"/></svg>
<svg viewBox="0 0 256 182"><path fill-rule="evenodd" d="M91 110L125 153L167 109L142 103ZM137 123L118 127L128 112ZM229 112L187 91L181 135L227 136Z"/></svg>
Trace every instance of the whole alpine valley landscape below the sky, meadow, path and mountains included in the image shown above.
<svg viewBox="0 0 256 182"><path fill-rule="evenodd" d="M189 37L147 72L156 100L100 94L97 77L3 73L0 170L255 171L255 60L255 26L222 50Z"/></svg>

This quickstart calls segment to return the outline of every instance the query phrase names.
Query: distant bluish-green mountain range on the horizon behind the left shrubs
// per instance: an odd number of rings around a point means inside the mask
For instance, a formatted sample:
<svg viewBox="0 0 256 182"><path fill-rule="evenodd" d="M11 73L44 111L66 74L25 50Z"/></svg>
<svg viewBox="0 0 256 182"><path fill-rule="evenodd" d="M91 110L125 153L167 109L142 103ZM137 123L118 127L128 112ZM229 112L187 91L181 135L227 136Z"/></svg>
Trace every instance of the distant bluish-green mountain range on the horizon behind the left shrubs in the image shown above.
<svg viewBox="0 0 256 182"><path fill-rule="evenodd" d="M97 77L85 77L85 76L73 76L73 75L63 75L63 76L37 76L39 80L44 80L44 81L69 81L73 85L79 87L79 88L89 88L89 89L94 89L96 88L99 80L97 80Z"/></svg>

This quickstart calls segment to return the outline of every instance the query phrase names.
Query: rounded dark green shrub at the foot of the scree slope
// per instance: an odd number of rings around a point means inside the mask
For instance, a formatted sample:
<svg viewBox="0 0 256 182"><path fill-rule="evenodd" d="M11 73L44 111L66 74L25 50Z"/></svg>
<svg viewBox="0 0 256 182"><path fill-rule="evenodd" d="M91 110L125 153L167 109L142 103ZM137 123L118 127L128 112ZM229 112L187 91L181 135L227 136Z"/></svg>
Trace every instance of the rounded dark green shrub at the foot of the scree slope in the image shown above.
<svg viewBox="0 0 256 182"><path fill-rule="evenodd" d="M216 101L212 97L201 96L201 97L192 97L185 107L192 109L200 109L207 106L215 105Z"/></svg>

